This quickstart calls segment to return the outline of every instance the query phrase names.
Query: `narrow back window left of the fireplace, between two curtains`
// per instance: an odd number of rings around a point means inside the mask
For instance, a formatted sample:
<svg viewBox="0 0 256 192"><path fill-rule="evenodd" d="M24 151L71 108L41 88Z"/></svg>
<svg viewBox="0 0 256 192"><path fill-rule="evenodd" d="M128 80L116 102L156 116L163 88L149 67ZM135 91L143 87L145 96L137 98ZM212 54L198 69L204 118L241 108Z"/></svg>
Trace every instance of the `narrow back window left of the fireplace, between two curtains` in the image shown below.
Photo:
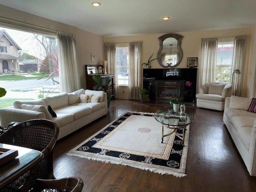
<svg viewBox="0 0 256 192"><path fill-rule="evenodd" d="M116 48L117 85L128 86L129 76L129 47Z"/></svg>

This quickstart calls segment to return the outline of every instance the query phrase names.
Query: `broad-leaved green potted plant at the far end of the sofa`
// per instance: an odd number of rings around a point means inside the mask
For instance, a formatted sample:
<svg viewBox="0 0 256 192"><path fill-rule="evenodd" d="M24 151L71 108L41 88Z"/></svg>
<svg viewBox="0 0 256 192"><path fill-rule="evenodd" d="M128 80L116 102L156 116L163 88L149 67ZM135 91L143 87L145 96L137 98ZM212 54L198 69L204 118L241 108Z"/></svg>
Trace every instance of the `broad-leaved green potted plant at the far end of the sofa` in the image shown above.
<svg viewBox="0 0 256 192"><path fill-rule="evenodd" d="M94 90L102 90L105 93L107 93L107 98L108 98L108 108L110 106L110 99L111 99L111 92L108 92L108 88L112 86L112 84L110 84L110 78L106 78L104 81L104 84L102 83L102 77L101 76L93 76L92 79L94 80L94 82L96 83L95 86L93 86L92 88Z"/></svg>

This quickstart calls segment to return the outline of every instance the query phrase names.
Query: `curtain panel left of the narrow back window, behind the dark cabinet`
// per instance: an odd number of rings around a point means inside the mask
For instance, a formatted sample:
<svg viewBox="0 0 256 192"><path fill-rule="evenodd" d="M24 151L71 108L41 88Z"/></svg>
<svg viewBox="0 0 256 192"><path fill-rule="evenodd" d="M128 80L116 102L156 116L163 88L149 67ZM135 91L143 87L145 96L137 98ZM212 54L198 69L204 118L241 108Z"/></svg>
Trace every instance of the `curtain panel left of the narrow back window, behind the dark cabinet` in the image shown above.
<svg viewBox="0 0 256 192"><path fill-rule="evenodd" d="M114 74L114 83L117 85L117 73L116 73L116 44L104 43L104 60L108 61L107 72ZM115 97L118 98L118 86L114 86Z"/></svg>

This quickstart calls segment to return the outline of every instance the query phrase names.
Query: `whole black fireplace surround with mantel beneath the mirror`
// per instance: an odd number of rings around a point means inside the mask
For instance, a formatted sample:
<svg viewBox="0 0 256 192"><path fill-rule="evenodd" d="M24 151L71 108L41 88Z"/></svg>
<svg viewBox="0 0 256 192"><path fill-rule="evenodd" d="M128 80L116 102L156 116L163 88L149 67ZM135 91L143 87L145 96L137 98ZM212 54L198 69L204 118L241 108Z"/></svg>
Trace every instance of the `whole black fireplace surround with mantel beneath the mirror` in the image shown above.
<svg viewBox="0 0 256 192"><path fill-rule="evenodd" d="M197 68L143 69L143 88L150 90L150 102L169 103L172 98L194 103Z"/></svg>

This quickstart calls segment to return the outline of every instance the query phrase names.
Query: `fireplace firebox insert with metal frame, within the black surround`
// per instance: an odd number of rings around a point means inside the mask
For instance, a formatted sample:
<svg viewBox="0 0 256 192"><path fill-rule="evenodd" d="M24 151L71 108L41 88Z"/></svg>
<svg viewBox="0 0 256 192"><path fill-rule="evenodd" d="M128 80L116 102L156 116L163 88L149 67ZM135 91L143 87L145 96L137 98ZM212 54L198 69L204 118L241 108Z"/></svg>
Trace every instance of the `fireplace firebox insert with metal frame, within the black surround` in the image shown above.
<svg viewBox="0 0 256 192"><path fill-rule="evenodd" d="M183 98L185 81L153 80L155 102L157 104L169 104L170 99ZM183 101L183 99L181 100Z"/></svg>

